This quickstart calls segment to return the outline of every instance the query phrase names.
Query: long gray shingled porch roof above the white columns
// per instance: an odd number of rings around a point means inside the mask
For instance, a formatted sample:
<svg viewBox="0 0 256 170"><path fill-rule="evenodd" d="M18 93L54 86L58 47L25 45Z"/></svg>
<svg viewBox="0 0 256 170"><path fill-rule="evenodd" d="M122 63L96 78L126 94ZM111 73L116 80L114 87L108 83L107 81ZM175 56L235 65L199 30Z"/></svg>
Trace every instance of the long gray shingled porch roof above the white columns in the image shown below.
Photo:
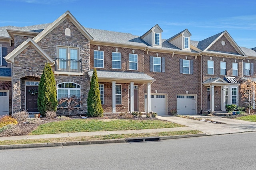
<svg viewBox="0 0 256 170"><path fill-rule="evenodd" d="M92 77L93 71L88 71L88 74L90 77ZM154 78L148 76L144 73L139 72L120 72L120 71L101 71L97 70L97 76L98 78L104 78L104 79L110 79L110 80L120 80L120 79L126 79L130 81L147 81L152 82L155 81Z"/></svg>

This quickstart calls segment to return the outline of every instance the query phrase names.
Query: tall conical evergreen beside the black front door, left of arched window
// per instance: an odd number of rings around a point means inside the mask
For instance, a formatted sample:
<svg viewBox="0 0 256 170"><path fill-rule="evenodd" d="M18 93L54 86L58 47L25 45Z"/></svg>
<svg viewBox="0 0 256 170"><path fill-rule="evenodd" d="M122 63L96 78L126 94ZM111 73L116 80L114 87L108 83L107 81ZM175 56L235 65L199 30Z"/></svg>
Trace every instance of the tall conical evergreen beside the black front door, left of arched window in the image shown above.
<svg viewBox="0 0 256 170"><path fill-rule="evenodd" d="M52 67L49 63L44 66L38 86L37 107L42 116L46 111L56 111L58 106L56 83Z"/></svg>

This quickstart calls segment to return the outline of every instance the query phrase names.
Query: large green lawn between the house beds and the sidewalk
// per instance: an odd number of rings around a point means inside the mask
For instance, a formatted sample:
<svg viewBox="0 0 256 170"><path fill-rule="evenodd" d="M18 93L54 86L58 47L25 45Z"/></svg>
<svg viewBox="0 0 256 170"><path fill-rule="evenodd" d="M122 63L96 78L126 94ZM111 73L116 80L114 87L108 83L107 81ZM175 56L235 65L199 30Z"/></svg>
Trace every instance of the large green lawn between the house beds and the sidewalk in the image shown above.
<svg viewBox="0 0 256 170"><path fill-rule="evenodd" d="M170 127L184 127L169 121L157 119L130 120L130 119L73 119L50 122L39 125L30 135L91 132L91 131L122 131L138 129L158 129Z"/></svg>

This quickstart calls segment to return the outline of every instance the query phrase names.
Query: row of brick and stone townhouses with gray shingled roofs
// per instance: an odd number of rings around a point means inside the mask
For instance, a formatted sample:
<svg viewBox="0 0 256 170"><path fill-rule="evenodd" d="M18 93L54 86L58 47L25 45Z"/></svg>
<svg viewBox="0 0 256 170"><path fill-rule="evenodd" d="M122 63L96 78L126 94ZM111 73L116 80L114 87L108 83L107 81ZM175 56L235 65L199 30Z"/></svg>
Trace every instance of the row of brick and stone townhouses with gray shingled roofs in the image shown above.
<svg viewBox="0 0 256 170"><path fill-rule="evenodd" d="M202 41L192 41L188 29L169 39L162 33L157 24L141 36L86 28L68 11L49 24L0 27L0 115L38 112L30 92L46 62L58 100L81 97L76 113L87 112L94 68L104 113L197 114L243 105L239 84L254 74L255 49L239 47L227 31Z"/></svg>

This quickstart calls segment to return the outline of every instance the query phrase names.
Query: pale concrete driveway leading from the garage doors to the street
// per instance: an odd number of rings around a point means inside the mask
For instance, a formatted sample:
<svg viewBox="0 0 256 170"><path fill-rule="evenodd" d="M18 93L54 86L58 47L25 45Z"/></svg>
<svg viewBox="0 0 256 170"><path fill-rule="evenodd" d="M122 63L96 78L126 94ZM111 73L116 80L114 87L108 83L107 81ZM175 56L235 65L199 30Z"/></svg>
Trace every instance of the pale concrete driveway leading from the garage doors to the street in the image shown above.
<svg viewBox="0 0 256 170"><path fill-rule="evenodd" d="M172 121L181 125L191 127L206 133L206 135L220 135L229 133L241 133L256 131L256 122L242 121L236 119L228 119L222 116L202 116L202 115L190 115L196 118L208 118L213 121L222 122L225 124L209 123L205 121L198 121L192 119L186 119L182 117L174 117L170 115L157 116L158 119Z"/></svg>

